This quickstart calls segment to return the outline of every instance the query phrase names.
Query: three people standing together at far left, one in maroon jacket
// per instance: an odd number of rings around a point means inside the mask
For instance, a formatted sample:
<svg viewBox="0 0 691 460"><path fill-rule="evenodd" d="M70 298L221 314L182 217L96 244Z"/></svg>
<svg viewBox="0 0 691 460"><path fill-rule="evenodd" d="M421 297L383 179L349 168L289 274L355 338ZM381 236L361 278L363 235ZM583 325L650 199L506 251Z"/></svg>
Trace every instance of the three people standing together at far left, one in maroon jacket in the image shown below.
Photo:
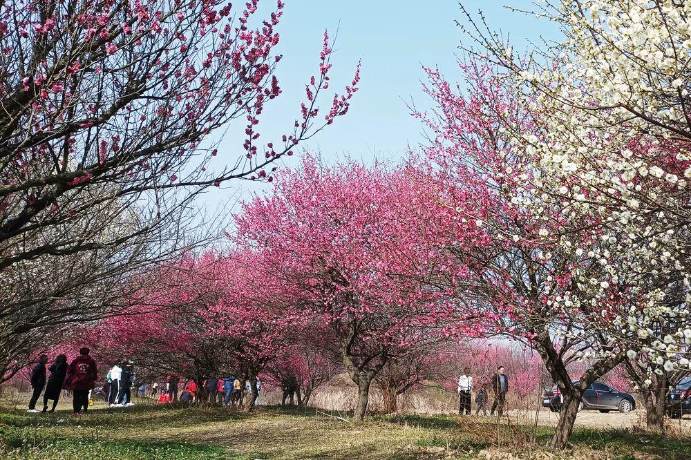
<svg viewBox="0 0 691 460"><path fill-rule="evenodd" d="M73 410L74 414L86 412L89 406L89 393L93 390L98 372L96 368L96 361L89 356L89 349L84 347L79 350L79 356L71 363L67 363L67 356L59 354L55 358L55 362L48 367L46 371L46 364L48 363L48 356L42 354L39 357L38 364L31 372L31 399L29 400L29 408L27 412L37 413L36 403L44 393L44 408L42 412L55 412L55 407L60 399L62 390L70 390L73 395ZM46 379L47 372L50 376ZM45 388L45 392L44 392ZM48 401L53 401L53 407L48 410Z"/></svg>

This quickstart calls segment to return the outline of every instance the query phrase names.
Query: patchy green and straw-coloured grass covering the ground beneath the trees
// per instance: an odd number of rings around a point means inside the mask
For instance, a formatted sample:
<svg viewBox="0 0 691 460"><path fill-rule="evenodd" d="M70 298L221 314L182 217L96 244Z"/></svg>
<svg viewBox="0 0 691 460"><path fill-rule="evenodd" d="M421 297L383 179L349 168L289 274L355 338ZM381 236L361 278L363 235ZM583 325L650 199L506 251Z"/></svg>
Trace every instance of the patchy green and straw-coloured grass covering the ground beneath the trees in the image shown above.
<svg viewBox="0 0 691 460"><path fill-rule="evenodd" d="M69 401L68 401L69 402ZM66 406L63 406L66 407ZM577 428L574 448L544 447L553 429L456 416L372 416L355 424L314 409L138 405L73 418L0 411L3 459L689 459L688 438ZM501 457L504 452L504 457ZM515 457L507 457L511 452ZM500 455L500 457L496 457ZM486 458L483 453L482 458Z"/></svg>

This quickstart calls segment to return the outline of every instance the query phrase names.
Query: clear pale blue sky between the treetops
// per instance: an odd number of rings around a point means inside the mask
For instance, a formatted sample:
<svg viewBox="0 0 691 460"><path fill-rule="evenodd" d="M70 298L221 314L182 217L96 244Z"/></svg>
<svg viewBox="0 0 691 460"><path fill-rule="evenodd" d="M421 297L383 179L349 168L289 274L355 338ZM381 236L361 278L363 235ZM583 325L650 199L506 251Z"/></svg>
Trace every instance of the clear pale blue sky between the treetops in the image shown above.
<svg viewBox="0 0 691 460"><path fill-rule="evenodd" d="M265 7L273 8L272 0ZM462 0L477 16L481 9L494 30L509 33L515 50L527 46L527 40L539 41L540 36L556 37L547 21L538 21L504 8L532 10L527 0ZM423 142L422 126L406 107L415 102L418 108L429 108L430 101L422 93L420 82L425 78L422 66L438 66L447 79L459 77L457 57L459 46L471 44L455 24L464 16L453 0L286 0L283 18L278 26L281 42L278 52L283 60L276 75L283 94L267 104L261 120L262 139L269 142L289 131L299 116L304 97L304 84L317 71L322 35L339 31L332 57L332 88L341 89L352 79L357 61L361 59L361 84L350 112L320 133L303 148L319 151L326 161L352 157L370 162L375 157L397 160L404 157L408 144ZM323 98L322 106L330 104L331 95ZM231 126L219 148L218 158L237 157L242 145L242 123ZM299 162L288 157L279 167ZM227 189L207 194L209 204L247 198L252 191L261 193L270 185L238 181Z"/></svg>

